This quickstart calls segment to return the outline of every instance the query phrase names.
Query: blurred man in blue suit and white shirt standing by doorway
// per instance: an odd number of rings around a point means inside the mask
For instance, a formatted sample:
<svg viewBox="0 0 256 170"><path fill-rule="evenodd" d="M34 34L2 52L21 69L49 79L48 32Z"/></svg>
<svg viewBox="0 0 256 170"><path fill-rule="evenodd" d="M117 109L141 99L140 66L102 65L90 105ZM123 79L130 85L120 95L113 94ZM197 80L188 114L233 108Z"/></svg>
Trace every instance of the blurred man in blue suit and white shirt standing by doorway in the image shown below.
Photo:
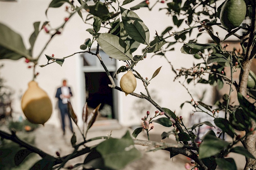
<svg viewBox="0 0 256 170"><path fill-rule="evenodd" d="M68 101L72 96L72 92L70 87L67 87L67 80L63 80L63 86L57 89L56 98L58 98L58 106L60 108L61 113L61 121L62 121L62 130L63 135L65 135L65 115L68 115L70 122L70 130L73 132L72 122L70 115L68 114Z"/></svg>

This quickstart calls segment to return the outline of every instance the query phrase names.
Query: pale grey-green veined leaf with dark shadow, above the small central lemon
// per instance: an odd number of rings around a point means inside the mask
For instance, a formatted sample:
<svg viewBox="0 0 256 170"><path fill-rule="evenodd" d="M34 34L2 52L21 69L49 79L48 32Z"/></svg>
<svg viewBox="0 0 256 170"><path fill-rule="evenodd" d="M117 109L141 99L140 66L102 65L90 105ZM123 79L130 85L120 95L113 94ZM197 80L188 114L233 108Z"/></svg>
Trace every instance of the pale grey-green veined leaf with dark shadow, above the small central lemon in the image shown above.
<svg viewBox="0 0 256 170"><path fill-rule="evenodd" d="M110 57L118 60L133 60L129 46L118 36L98 33L95 36L102 50Z"/></svg>

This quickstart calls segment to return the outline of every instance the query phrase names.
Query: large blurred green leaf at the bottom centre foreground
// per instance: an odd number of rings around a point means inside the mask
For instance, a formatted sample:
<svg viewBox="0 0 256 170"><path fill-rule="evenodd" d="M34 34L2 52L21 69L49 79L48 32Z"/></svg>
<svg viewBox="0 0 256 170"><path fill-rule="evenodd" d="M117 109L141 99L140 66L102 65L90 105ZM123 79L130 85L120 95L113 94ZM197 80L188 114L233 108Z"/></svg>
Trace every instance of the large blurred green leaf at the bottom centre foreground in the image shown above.
<svg viewBox="0 0 256 170"><path fill-rule="evenodd" d="M141 157L140 151L133 145L129 131L121 139L110 138L101 142L96 150L103 157L105 166L111 169L122 169L128 163Z"/></svg>

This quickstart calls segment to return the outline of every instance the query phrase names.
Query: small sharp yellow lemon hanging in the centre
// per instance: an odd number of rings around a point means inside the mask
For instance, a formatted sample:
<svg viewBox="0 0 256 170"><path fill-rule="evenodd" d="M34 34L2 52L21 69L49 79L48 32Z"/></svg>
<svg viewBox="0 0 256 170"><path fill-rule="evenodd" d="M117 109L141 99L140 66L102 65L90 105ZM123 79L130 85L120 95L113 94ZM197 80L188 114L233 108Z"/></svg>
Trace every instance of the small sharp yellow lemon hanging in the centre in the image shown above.
<svg viewBox="0 0 256 170"><path fill-rule="evenodd" d="M136 85L137 85L136 78L132 74L132 71L130 70L127 71L127 73L124 74L120 80L120 87L126 96L135 90Z"/></svg>

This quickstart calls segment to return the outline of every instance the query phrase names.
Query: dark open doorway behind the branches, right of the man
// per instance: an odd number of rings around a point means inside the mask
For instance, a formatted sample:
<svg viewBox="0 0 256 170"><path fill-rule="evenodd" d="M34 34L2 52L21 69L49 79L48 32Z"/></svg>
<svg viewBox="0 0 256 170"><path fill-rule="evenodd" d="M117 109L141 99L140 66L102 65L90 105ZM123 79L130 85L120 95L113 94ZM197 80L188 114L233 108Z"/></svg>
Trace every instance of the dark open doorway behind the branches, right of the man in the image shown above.
<svg viewBox="0 0 256 170"><path fill-rule="evenodd" d="M110 74L112 73L110 72ZM93 110L101 103L98 119L114 118L113 89L108 86L111 82L106 72L85 72L84 75L88 108Z"/></svg>

